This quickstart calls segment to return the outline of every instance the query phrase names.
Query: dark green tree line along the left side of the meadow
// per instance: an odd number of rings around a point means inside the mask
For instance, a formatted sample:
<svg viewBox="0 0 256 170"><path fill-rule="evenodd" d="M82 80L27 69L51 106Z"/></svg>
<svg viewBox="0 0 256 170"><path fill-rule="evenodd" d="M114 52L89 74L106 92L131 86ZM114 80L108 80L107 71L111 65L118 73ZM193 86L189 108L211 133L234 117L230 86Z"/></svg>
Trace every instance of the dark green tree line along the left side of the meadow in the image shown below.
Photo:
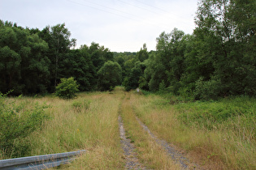
<svg viewBox="0 0 256 170"><path fill-rule="evenodd" d="M102 66L117 64L114 54L97 43L73 49L76 40L70 39L71 32L65 23L39 30L0 21L0 36L2 93L10 90L15 95L54 92L60 79L69 77L80 84L80 91L106 90L101 87L104 80L98 79L100 74L105 74ZM121 71L117 69L116 73ZM121 84L120 81L119 78L116 83Z"/></svg>

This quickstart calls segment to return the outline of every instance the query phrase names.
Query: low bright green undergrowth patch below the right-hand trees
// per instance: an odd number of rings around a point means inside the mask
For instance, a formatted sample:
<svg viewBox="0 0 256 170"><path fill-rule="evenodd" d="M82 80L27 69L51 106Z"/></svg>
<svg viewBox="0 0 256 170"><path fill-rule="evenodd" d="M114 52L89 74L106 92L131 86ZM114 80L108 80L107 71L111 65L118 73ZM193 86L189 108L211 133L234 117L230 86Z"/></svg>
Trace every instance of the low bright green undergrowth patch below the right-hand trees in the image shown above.
<svg viewBox="0 0 256 170"><path fill-rule="evenodd" d="M175 107L180 110L178 118L185 125L196 125L199 128L212 130L225 123L234 130L236 130L236 126L241 126L245 128L245 131L253 133L251 135L255 138L255 102L254 98L240 96L219 101L176 104Z"/></svg>

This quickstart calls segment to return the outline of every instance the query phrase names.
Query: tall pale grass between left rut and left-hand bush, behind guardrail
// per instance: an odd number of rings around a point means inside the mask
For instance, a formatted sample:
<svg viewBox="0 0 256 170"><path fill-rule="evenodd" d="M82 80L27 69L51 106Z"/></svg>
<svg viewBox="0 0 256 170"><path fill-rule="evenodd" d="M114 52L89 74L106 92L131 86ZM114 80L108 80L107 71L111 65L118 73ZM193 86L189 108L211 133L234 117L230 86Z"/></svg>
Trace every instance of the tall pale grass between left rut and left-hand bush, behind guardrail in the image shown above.
<svg viewBox="0 0 256 170"><path fill-rule="evenodd" d="M54 96L27 98L48 104L45 111L51 119L28 137L28 155L45 155L86 150L72 164L62 168L123 168L120 146L118 109L123 91L80 93L74 100Z"/></svg>

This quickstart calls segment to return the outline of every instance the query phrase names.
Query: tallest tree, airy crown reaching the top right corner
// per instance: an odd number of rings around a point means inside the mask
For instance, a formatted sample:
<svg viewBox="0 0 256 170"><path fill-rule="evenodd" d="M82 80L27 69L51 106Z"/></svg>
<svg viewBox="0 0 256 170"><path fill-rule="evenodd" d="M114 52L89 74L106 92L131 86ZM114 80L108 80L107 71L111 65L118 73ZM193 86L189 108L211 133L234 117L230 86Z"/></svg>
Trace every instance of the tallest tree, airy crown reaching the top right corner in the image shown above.
<svg viewBox="0 0 256 170"><path fill-rule="evenodd" d="M204 49L199 57L212 61L219 96L256 94L255 2L203 0L197 11L195 35ZM202 84L209 84L208 82ZM208 86L208 85L207 85Z"/></svg>

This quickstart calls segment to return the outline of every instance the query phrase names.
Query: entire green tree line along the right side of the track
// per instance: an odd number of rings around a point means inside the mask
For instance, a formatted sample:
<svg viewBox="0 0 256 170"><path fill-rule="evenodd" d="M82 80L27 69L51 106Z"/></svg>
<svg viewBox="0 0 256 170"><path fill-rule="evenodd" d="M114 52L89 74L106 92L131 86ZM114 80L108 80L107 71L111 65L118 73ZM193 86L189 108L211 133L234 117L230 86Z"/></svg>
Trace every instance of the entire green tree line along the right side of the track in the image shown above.
<svg viewBox="0 0 256 170"><path fill-rule="evenodd" d="M124 78L127 90L171 92L194 99L256 95L256 2L202 0L192 35L174 28L144 47Z"/></svg>

